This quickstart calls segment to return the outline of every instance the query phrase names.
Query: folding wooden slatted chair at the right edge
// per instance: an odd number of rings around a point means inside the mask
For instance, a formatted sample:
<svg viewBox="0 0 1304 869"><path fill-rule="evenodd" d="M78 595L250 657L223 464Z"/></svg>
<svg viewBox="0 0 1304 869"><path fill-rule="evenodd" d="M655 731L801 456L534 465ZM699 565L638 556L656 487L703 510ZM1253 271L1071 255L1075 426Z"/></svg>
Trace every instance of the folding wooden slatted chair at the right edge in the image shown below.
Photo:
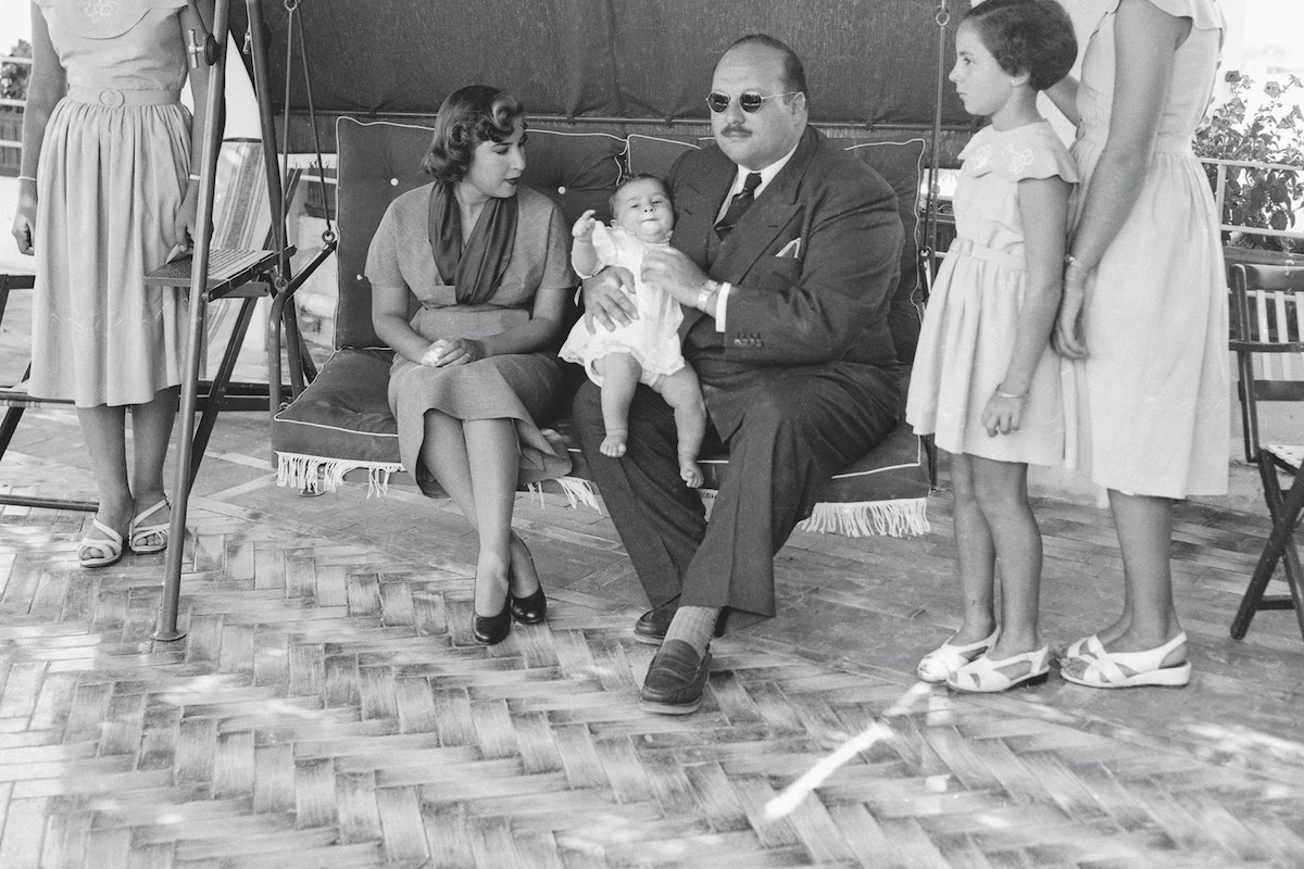
<svg viewBox="0 0 1304 869"><path fill-rule="evenodd" d="M1235 311L1231 349L1236 353L1240 379L1245 459L1258 468L1273 520L1267 545L1232 620L1231 636L1243 638L1258 610L1290 608L1295 610L1304 636L1304 572L1294 542L1304 506L1304 443L1265 443L1260 418L1264 401L1292 401L1297 403L1292 410L1304 410L1304 263L1236 264L1230 276ZM1291 434L1299 438L1297 425ZM1283 474L1290 476L1284 485ZM1279 562L1290 594L1265 594Z"/></svg>

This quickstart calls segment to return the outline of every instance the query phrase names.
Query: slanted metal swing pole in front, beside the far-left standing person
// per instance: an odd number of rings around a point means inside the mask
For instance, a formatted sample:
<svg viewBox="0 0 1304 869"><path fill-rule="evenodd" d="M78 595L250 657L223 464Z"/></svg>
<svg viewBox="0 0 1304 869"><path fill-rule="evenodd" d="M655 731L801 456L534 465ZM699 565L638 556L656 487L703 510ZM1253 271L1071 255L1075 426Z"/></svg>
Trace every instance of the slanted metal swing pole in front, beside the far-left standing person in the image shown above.
<svg viewBox="0 0 1304 869"><path fill-rule="evenodd" d="M185 636L176 625L181 601L181 556L185 552L185 513L190 499L190 463L194 452L194 413L198 406L200 354L203 352L203 315L209 306L209 254L213 246L213 192L216 181L218 149L222 146L223 91L227 72L227 10L230 0L216 0L213 34L216 48L213 56L192 55L196 63L209 64L209 103L203 117L203 154L200 160L200 205L196 227L194 259L190 264L190 331L186 343L185 371L181 375L180 425L176 433L176 481L172 483L172 522L168 529L167 572L163 576L163 605L159 610L154 638L180 640ZM190 34L192 39L198 34ZM205 40L207 42L207 40Z"/></svg>

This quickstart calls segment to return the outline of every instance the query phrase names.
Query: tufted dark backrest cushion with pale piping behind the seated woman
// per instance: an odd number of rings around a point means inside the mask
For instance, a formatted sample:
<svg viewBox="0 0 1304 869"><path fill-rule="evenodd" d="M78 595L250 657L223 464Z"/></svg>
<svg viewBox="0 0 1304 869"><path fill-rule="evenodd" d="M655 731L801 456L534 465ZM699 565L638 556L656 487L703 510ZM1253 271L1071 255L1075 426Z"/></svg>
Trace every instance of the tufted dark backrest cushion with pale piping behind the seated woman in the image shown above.
<svg viewBox="0 0 1304 869"><path fill-rule="evenodd" d="M372 327L372 288L363 274L366 251L385 210L399 194L430 182L421 158L428 126L340 117L339 298L335 348L383 347ZM561 207L567 225L587 208L606 220L608 199L621 173L625 139L608 133L574 133L531 126L523 180Z"/></svg>

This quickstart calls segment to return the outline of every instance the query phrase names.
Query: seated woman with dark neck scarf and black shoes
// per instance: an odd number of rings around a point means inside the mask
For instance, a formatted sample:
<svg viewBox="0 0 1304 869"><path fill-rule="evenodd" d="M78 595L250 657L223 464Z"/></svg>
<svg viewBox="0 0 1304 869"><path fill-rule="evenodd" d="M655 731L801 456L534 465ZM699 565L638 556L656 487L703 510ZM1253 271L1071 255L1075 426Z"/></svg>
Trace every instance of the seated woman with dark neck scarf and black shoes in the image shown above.
<svg viewBox="0 0 1304 869"><path fill-rule="evenodd" d="M570 469L539 429L563 403L554 348L576 284L570 233L548 197L519 185L524 145L514 98L484 85L450 94L422 162L434 184L390 205L366 258L376 334L395 352L403 465L428 495L433 477L480 535L472 627L485 644L512 616L544 618L511 511L519 482Z"/></svg>

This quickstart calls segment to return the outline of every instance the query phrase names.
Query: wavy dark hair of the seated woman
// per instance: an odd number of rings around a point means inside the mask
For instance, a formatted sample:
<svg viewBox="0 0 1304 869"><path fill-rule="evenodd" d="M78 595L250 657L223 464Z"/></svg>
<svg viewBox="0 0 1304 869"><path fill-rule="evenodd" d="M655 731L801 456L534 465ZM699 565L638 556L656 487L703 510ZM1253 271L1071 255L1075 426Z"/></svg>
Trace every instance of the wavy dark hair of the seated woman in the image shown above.
<svg viewBox="0 0 1304 869"><path fill-rule="evenodd" d="M516 124L524 129L526 108L511 94L488 85L460 87L439 106L421 168L438 181L456 184L467 177L476 146L505 142Z"/></svg>

